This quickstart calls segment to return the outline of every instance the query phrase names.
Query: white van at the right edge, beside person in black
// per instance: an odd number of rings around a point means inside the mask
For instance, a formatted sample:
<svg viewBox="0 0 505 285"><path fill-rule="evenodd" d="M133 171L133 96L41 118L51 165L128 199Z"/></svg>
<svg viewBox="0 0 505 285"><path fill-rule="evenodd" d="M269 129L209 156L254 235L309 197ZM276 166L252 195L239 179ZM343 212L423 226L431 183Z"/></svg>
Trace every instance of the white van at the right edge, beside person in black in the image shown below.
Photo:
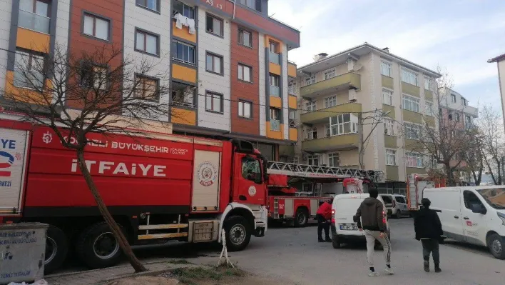
<svg viewBox="0 0 505 285"><path fill-rule="evenodd" d="M424 189L432 201L444 236L487 246L497 259L505 259L504 186L464 186Z"/></svg>

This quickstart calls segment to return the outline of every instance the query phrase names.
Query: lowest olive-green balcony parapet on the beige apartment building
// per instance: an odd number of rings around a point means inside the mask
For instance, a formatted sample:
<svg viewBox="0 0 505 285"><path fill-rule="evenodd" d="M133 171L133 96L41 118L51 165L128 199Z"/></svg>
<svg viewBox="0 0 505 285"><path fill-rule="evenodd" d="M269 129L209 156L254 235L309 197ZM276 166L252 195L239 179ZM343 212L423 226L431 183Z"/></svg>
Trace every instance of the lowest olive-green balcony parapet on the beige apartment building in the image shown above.
<svg viewBox="0 0 505 285"><path fill-rule="evenodd" d="M328 136L322 139L302 141L302 149L304 151L316 153L357 149L358 145L358 134L341 134L338 136Z"/></svg>

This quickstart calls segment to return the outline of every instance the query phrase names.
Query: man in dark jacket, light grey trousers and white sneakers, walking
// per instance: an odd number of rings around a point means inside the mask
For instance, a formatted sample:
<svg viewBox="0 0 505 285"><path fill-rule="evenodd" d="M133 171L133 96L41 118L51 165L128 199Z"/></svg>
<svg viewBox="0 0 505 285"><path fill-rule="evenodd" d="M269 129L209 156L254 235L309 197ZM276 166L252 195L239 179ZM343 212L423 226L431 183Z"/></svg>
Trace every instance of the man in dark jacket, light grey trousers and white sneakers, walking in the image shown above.
<svg viewBox="0 0 505 285"><path fill-rule="evenodd" d="M357 223L359 231L364 231L367 239L367 261L369 266L368 276L379 276L379 272L374 268L374 244L375 240L382 244L384 249L384 259L386 259L386 274L394 274L391 269L391 242L387 236L386 224L384 222L384 205L377 199L379 192L377 189L369 190L369 198L364 199L357 209L354 222Z"/></svg>

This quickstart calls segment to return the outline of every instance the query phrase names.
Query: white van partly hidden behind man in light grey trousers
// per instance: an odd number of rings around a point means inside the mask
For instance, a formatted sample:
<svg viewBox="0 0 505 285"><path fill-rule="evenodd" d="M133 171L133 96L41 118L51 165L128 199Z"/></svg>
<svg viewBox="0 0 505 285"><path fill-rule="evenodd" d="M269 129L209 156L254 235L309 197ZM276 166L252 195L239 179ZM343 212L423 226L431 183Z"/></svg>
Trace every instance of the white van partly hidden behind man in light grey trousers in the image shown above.
<svg viewBox="0 0 505 285"><path fill-rule="evenodd" d="M364 231L359 231L357 228L357 223L354 222L352 217L356 215L356 211L359 208L364 199L370 196L368 193L364 194L341 194L335 196L332 204L332 244L334 249L340 249L340 245L347 241L365 241ZM382 197L379 195L377 197L379 201L384 205ZM386 206L384 206L384 211L382 214L384 216L383 220L386 223L387 236L391 238L391 233L389 232L389 221L387 220Z"/></svg>

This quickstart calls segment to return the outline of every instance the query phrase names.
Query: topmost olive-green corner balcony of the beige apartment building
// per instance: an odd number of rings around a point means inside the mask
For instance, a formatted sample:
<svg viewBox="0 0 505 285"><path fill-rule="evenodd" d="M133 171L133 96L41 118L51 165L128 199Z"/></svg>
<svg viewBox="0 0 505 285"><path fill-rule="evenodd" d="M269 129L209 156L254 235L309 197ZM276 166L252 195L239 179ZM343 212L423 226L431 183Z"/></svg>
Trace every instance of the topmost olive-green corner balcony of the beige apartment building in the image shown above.
<svg viewBox="0 0 505 285"><path fill-rule="evenodd" d="M336 90L361 89L361 76L349 72L335 76L331 79L319 81L315 84L304 86L300 89L300 96L314 98L323 94L329 94Z"/></svg>

